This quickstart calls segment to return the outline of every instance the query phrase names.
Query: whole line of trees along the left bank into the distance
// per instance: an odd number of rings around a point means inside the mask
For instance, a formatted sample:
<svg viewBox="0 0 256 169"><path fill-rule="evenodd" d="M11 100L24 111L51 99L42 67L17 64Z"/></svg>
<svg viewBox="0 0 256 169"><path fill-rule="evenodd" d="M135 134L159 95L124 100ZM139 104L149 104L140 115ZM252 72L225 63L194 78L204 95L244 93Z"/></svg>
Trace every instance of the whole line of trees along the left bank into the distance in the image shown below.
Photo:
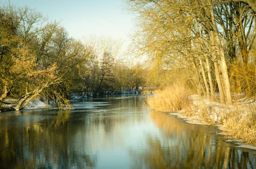
<svg viewBox="0 0 256 169"><path fill-rule="evenodd" d="M35 99L67 107L70 95L122 93L143 86L143 66L122 59L121 40L70 37L29 7L0 5L0 110Z"/></svg>

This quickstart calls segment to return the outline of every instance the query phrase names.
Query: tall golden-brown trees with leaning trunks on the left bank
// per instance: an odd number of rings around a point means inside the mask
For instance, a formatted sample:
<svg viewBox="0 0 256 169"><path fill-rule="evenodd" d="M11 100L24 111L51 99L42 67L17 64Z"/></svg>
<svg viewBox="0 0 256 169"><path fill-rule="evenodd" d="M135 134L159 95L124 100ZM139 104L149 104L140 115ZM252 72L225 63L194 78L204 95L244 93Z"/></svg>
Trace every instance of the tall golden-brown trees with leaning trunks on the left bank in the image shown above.
<svg viewBox="0 0 256 169"><path fill-rule="evenodd" d="M52 99L59 105L67 104L67 74L86 61L91 50L33 9L9 5L0 12L1 106L20 110L43 93L55 95ZM7 96L16 101L6 101Z"/></svg>

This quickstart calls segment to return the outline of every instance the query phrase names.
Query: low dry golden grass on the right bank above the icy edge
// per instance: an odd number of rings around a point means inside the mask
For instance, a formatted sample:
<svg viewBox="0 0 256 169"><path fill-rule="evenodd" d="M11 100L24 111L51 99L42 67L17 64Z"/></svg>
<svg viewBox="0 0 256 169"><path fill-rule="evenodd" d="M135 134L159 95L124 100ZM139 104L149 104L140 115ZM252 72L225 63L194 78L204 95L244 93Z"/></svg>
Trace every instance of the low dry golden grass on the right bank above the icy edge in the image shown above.
<svg viewBox="0 0 256 169"><path fill-rule="evenodd" d="M215 109L204 103L192 105L188 114L197 117L201 123L219 125L224 130L221 134L227 139L241 139L243 143L256 146L256 105L232 107Z"/></svg>

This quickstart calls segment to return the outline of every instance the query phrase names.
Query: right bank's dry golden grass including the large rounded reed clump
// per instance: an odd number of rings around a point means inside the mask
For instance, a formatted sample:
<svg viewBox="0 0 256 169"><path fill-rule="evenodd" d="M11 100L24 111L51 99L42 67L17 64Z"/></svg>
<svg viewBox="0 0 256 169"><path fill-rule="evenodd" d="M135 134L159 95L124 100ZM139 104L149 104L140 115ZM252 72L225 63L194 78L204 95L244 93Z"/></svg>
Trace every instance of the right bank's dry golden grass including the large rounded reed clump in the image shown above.
<svg viewBox="0 0 256 169"><path fill-rule="evenodd" d="M256 104L254 100L240 99L233 105L206 100L190 95L186 87L175 84L150 97L147 103L157 111L185 110L183 116L197 122L219 125L227 139L241 139L256 146Z"/></svg>

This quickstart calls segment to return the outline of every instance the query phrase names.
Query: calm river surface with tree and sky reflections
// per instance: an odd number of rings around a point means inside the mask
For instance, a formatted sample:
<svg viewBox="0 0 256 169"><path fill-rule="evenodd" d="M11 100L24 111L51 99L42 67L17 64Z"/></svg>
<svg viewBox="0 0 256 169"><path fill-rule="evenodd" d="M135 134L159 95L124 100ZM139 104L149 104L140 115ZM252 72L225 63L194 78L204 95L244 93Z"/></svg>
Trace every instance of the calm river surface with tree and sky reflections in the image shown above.
<svg viewBox="0 0 256 169"><path fill-rule="evenodd" d="M144 96L0 114L0 168L255 169L213 126L141 108Z"/></svg>

